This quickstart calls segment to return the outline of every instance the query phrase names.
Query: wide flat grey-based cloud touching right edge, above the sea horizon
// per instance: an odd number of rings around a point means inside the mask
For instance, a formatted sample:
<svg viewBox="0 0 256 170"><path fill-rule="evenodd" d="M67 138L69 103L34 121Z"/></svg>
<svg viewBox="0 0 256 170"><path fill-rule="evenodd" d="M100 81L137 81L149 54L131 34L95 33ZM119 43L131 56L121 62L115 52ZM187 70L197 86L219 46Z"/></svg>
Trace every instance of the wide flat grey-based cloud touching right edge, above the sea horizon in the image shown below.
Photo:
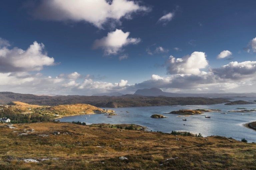
<svg viewBox="0 0 256 170"><path fill-rule="evenodd" d="M212 69L212 72L225 79L244 79L255 77L256 61L230 62L220 68Z"/></svg>

